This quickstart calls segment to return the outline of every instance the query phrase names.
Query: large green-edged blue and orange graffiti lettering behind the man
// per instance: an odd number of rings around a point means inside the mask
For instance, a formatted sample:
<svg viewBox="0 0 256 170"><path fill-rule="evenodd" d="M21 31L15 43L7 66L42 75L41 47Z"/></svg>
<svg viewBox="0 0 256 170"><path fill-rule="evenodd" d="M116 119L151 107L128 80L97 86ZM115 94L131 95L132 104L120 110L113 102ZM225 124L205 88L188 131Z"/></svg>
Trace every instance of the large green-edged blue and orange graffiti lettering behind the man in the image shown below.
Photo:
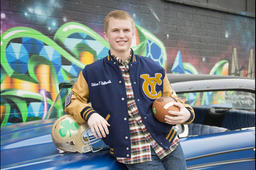
<svg viewBox="0 0 256 170"><path fill-rule="evenodd" d="M165 66L164 44L138 25L132 48ZM53 40L28 27L3 33L1 127L44 119L58 94L58 84L77 78L86 64L106 57L108 50L105 39L77 22L62 25Z"/></svg>

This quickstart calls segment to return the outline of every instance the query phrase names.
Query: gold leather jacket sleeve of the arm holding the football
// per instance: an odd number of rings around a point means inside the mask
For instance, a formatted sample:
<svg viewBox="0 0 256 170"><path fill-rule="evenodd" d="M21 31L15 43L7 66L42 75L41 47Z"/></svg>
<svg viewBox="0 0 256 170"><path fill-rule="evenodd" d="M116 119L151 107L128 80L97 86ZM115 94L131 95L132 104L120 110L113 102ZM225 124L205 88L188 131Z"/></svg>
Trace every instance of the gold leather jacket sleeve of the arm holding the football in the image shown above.
<svg viewBox="0 0 256 170"><path fill-rule="evenodd" d="M190 121L186 122L186 123L182 123L182 125L185 124L190 124L192 123L192 121L195 118L195 113L194 113L194 109L189 105L189 104L184 104L184 102L176 95L176 93L174 92L174 90L172 89L172 86L170 85L170 82L167 78L167 76L165 75L164 80L164 89L163 89L163 95L162 96L166 96L166 97L173 97L175 98L179 103L181 103L183 106L185 106L186 108L190 109L192 111L192 117L190 117Z"/></svg>

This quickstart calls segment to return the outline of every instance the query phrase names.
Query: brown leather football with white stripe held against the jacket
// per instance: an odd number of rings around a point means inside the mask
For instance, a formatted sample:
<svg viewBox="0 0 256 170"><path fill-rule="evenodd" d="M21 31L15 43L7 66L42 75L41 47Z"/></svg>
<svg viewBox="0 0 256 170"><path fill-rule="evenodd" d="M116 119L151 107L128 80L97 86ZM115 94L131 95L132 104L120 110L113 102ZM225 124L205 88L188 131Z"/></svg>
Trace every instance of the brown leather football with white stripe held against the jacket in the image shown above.
<svg viewBox="0 0 256 170"><path fill-rule="evenodd" d="M177 102L177 100L172 97L160 97L154 101L152 105L152 112L158 121L165 123L165 115L172 117L175 116L169 114L168 111L180 111L178 106L174 106L174 102Z"/></svg>

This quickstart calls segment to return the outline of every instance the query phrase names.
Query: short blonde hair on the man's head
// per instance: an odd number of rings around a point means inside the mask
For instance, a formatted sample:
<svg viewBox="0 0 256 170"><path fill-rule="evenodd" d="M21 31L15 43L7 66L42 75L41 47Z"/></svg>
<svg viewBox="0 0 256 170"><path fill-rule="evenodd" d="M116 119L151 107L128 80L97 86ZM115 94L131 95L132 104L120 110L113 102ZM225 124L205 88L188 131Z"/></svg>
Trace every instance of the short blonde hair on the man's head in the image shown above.
<svg viewBox="0 0 256 170"><path fill-rule="evenodd" d="M104 32L108 33L108 25L111 18L118 20L129 20L132 23L132 31L134 31L134 21L132 16L123 10L115 10L110 12L104 20Z"/></svg>

